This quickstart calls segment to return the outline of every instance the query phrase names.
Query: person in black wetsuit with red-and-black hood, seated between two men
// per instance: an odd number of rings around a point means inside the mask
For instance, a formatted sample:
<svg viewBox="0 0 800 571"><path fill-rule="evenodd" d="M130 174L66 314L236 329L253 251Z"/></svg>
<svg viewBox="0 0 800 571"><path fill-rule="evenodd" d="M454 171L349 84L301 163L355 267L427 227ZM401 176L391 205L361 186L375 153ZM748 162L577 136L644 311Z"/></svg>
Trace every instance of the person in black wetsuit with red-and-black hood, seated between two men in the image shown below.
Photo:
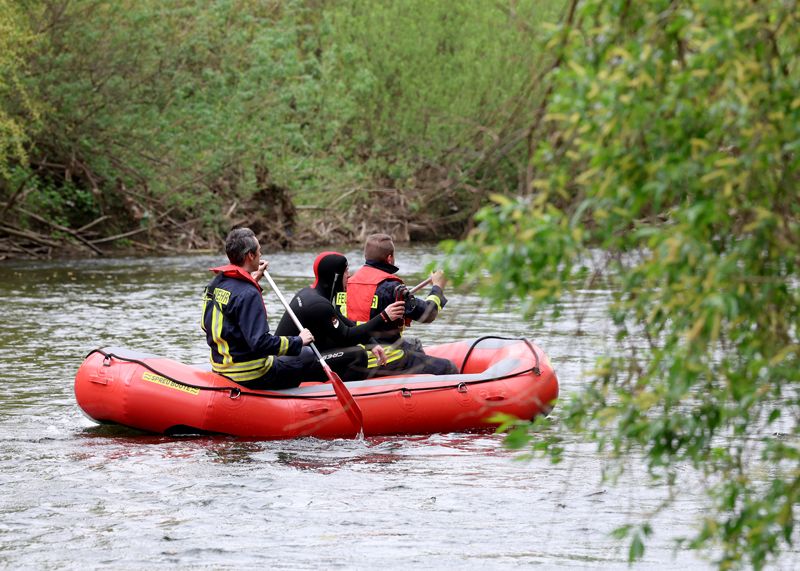
<svg viewBox="0 0 800 571"><path fill-rule="evenodd" d="M390 323L403 315L403 302L396 302L372 320L362 325L343 317L333 305L333 300L347 287L347 258L338 252L323 252L314 261L316 281L311 287L298 291L289 306L297 319L314 336L317 348L331 369L343 381L364 379L370 369L383 366L387 360L399 358L387 355L380 344L372 339L371 332L382 323ZM291 316L284 313L276 335L297 335L297 326Z"/></svg>

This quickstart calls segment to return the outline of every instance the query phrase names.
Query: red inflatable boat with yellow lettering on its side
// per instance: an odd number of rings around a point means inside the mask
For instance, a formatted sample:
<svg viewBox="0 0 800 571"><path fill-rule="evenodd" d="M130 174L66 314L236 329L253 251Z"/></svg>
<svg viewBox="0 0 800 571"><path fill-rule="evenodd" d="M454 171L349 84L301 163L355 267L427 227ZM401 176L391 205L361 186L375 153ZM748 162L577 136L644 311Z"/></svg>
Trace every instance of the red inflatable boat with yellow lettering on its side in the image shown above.
<svg viewBox="0 0 800 571"><path fill-rule="evenodd" d="M364 416L364 435L430 434L492 428L498 412L547 413L558 381L544 352L525 339L483 337L426 347L457 375L398 375L347 383ZM208 367L121 348L92 351L75 377L81 409L100 423L165 434L229 434L263 439L358 433L330 383L255 391Z"/></svg>

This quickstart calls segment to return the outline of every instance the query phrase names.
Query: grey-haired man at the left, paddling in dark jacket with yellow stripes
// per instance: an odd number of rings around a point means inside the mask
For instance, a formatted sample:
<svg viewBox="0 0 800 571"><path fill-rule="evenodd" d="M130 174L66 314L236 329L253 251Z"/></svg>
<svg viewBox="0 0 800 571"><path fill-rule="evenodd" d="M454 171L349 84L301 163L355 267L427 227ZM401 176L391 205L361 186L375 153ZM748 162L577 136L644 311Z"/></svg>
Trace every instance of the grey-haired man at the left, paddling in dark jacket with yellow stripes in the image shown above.
<svg viewBox="0 0 800 571"><path fill-rule="evenodd" d="M261 279L268 262L249 228L237 228L225 240L230 264L216 274L203 294L202 328L211 348L212 369L251 389L296 387L302 381L325 380L310 348L308 329L291 336L269 332L261 297Z"/></svg>

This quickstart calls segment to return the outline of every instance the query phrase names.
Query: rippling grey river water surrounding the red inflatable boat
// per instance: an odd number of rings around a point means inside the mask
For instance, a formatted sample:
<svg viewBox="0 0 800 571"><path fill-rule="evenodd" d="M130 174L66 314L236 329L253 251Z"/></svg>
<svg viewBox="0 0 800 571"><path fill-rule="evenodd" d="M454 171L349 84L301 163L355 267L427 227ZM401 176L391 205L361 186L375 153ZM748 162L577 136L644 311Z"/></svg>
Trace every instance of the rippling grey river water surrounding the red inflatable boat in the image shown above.
<svg viewBox="0 0 800 571"><path fill-rule="evenodd" d="M359 254L347 255L357 266ZM266 257L285 294L312 281L313 253ZM430 248L401 251L401 275L416 283L434 259ZM628 568L627 543L611 531L655 513L670 490L649 484L635 459L617 486L604 483L604 458L567 434L563 462L551 465L519 461L494 434L167 438L84 417L73 379L95 347L207 360L200 294L207 268L222 262L0 264L0 568ZM563 396L608 350L608 299L585 291L566 308L580 312L580 326L570 318L534 329L514 307L490 311L459 292L412 333L426 344L531 338L549 354ZM274 327L278 302L266 301ZM658 513L634 568L711 568L674 549L703 510L699 487L684 486Z"/></svg>

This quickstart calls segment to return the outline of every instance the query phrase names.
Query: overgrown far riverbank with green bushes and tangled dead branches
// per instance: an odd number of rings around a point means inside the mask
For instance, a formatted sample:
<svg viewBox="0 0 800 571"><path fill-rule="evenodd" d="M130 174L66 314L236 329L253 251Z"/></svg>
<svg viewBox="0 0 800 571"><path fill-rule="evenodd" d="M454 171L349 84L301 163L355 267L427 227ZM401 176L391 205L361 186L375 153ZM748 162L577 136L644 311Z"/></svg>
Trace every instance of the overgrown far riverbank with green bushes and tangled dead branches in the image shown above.
<svg viewBox="0 0 800 571"><path fill-rule="evenodd" d="M0 250L458 236L561 6L0 0Z"/></svg>

